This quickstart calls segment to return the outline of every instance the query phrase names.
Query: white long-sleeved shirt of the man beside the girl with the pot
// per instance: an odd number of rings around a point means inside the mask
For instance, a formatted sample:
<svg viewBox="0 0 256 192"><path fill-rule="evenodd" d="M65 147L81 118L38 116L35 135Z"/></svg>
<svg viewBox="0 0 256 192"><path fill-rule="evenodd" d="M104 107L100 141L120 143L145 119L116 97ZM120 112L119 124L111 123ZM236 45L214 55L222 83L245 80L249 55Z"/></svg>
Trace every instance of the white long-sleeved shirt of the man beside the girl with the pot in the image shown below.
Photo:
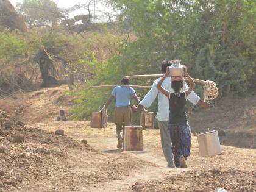
<svg viewBox="0 0 256 192"><path fill-rule="evenodd" d="M158 121L168 121L169 119L169 99L161 93L158 88L157 84L162 79L162 77L156 79L152 85L151 90L144 96L143 100L140 102L141 105L143 105L144 108L148 108L151 106L152 102L155 101L155 98L158 94L158 110L157 110L157 119ZM162 84L162 87L166 90L170 91L171 93L174 93L174 90L171 88L171 77L167 77ZM188 90L188 85L185 82L185 86L183 86L183 91ZM199 102L200 97L192 91L188 95L188 100L192 102L193 105L196 105L197 102Z"/></svg>

